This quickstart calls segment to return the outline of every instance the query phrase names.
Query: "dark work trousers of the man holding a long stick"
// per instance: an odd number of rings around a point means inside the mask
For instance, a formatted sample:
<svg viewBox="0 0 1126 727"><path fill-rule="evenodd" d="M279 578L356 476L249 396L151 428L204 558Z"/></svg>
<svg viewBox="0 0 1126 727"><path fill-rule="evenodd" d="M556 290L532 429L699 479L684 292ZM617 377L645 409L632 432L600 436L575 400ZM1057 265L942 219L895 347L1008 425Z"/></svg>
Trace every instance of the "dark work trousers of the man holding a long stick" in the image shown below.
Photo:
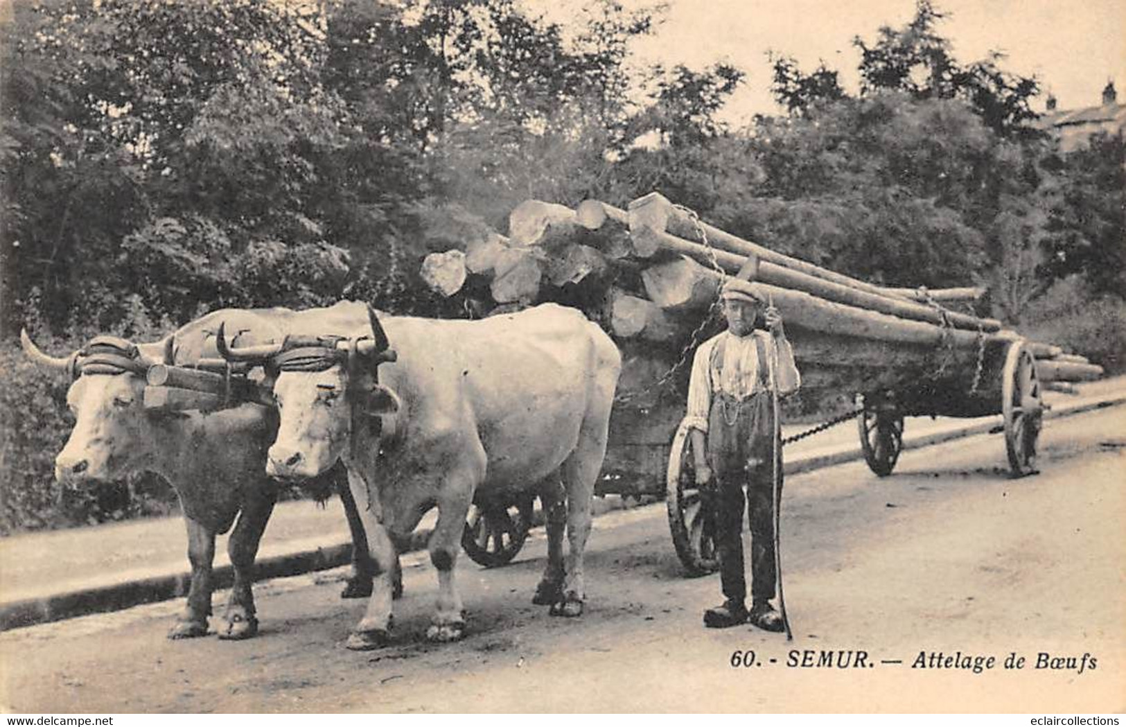
<svg viewBox="0 0 1126 727"><path fill-rule="evenodd" d="M741 402L715 394L708 415L708 487L715 517L715 544L723 595L743 602L743 512L751 529L751 596L756 603L775 596L778 573L774 546L774 467L777 452L781 485L781 442L775 447L770 392ZM745 490L745 494L744 494Z"/></svg>

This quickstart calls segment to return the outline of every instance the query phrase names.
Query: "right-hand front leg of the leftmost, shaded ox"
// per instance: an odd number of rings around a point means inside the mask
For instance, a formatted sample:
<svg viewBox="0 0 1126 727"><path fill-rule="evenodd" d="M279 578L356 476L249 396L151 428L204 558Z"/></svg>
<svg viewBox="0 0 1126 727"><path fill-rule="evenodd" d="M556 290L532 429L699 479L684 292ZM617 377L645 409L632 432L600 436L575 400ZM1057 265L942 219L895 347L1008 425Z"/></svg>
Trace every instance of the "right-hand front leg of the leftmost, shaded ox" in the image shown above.
<svg viewBox="0 0 1126 727"><path fill-rule="evenodd" d="M250 497L227 540L226 551L234 567L234 585L231 586L231 598L223 614L225 625L220 628L221 639L247 639L258 634L254 594L251 591L254 583L254 557L276 500L275 493Z"/></svg>

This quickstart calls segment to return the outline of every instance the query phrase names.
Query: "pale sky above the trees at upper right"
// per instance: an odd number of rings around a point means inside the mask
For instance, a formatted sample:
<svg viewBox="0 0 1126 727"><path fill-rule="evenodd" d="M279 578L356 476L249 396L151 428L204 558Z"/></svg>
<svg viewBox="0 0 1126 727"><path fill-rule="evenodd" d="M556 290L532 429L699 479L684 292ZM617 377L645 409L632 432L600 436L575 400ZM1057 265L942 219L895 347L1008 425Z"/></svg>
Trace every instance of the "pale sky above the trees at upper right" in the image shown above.
<svg viewBox="0 0 1126 727"><path fill-rule="evenodd" d="M619 0L627 8L654 1ZM638 63L683 63L700 69L723 61L747 72L744 87L724 116L741 122L780 109L770 96L775 51L795 57L803 71L820 61L841 72L855 91L859 52L857 35L875 41L881 26L905 25L914 0L665 0L665 21L635 46ZM566 23L583 0L527 0L547 19ZM1126 0L936 0L948 14L938 27L953 43L960 63L1007 54L1002 70L1035 75L1062 109L1101 104L1102 88L1114 80L1126 101ZM1035 99L1044 110L1047 93Z"/></svg>

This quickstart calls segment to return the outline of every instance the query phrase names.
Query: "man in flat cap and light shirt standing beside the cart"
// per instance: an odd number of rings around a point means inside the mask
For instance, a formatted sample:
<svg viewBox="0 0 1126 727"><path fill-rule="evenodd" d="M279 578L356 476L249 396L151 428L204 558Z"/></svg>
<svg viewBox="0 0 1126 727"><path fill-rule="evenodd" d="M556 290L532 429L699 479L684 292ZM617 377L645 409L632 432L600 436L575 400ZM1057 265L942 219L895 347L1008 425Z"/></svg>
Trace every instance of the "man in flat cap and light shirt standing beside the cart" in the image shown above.
<svg viewBox="0 0 1126 727"><path fill-rule="evenodd" d="M691 430L696 484L715 517L715 541L725 601L704 612L704 625L727 628L745 621L781 631L770 603L778 574L774 545L774 461L781 473L781 442L775 441L772 392L801 385L781 315L758 288L730 280L723 288L727 330L696 351L688 385L686 424ZM760 320L766 331L756 330ZM780 485L780 483L779 483ZM747 488L744 497L743 488ZM747 610L742 520L749 508L751 595Z"/></svg>

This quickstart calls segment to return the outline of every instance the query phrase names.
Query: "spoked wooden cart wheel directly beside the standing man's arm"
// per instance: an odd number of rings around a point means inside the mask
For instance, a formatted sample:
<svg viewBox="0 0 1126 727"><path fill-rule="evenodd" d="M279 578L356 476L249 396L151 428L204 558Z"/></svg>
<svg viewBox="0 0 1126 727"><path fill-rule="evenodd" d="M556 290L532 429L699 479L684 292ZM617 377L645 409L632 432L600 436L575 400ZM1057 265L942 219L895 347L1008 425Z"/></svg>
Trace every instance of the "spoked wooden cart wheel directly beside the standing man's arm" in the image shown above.
<svg viewBox="0 0 1126 727"><path fill-rule="evenodd" d="M720 567L715 553L715 526L696 486L696 460L688 428L680 424L669 452L665 505L672 547L689 575L707 575Z"/></svg>

